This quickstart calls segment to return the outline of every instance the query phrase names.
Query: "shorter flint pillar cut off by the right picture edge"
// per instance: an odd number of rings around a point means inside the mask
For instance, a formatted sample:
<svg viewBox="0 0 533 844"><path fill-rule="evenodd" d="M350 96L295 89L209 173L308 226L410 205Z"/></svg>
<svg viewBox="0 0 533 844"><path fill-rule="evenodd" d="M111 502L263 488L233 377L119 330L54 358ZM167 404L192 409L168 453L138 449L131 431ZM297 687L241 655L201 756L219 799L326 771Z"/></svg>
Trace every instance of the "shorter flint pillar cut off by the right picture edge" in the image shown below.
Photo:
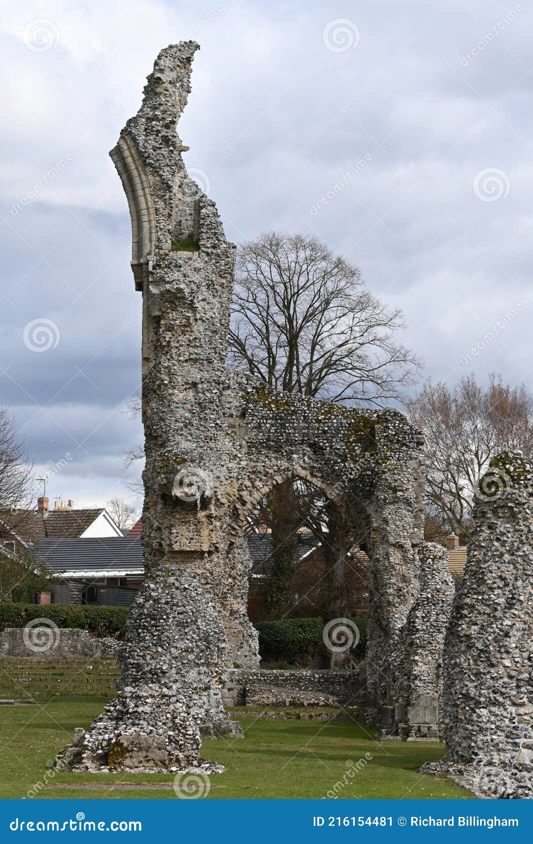
<svg viewBox="0 0 533 844"><path fill-rule="evenodd" d="M443 652L446 755L423 770L533 798L533 463L492 460L473 520Z"/></svg>

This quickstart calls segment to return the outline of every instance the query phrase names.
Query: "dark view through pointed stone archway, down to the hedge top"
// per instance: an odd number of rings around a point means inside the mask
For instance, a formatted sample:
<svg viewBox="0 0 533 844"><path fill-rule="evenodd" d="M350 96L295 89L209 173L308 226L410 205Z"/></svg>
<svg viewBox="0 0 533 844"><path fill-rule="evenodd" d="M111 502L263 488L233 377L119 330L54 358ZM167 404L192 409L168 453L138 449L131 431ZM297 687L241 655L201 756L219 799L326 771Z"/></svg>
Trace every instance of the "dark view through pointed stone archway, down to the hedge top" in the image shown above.
<svg viewBox="0 0 533 844"><path fill-rule="evenodd" d="M292 475L272 484L242 519L252 621L328 621L367 609L369 520L328 491Z"/></svg>

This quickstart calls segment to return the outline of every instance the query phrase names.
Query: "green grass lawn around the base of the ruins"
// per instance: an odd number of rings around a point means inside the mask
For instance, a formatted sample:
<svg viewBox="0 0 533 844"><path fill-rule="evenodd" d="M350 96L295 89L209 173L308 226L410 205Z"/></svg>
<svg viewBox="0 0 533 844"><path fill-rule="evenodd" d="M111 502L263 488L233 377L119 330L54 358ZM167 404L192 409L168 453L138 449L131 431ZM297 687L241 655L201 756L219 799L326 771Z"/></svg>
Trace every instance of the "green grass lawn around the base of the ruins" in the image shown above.
<svg viewBox="0 0 533 844"><path fill-rule="evenodd" d="M0 798L22 798L41 782L39 798L176 799L169 787L172 774L73 774L47 768L46 761L71 743L73 728L89 727L105 702L56 699L44 706L0 707ZM346 722L246 720L242 726L243 739L204 742L204 759L226 766L226 773L210 777L209 799L321 798L343 781L339 798L470 797L449 780L418 773L422 762L443 755L442 744L378 744ZM356 767L354 776L345 777ZM108 788L75 787L100 783Z"/></svg>

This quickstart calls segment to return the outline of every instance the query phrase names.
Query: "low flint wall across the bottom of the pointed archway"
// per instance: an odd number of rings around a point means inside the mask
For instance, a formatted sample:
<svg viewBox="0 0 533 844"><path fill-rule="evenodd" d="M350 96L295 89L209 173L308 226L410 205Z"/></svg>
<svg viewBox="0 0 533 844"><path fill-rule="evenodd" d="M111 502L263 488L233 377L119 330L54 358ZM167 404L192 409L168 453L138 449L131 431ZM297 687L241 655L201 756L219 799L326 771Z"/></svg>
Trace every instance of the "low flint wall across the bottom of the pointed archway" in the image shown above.
<svg viewBox="0 0 533 844"><path fill-rule="evenodd" d="M296 706L362 706L367 703L366 685L365 663L351 671L245 671L230 668L226 672L222 699L225 706L255 706L259 703L262 706L287 706L287 696L291 696L287 695L287 690L294 690L302 693ZM324 695L322 700L320 695Z"/></svg>

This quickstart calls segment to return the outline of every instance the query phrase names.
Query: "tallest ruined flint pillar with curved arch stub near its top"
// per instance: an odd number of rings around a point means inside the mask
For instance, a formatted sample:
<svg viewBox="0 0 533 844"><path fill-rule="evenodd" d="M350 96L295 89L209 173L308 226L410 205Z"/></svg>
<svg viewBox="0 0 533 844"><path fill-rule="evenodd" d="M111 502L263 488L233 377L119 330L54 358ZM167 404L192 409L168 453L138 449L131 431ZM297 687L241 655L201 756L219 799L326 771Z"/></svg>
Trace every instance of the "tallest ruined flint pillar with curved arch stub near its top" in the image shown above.
<svg viewBox="0 0 533 844"><path fill-rule="evenodd" d="M197 49L188 41L160 52L111 151L143 294L145 582L128 614L117 699L70 749L82 770L198 767L201 734L242 735L221 698L221 552L226 490L237 483L222 410L235 247L188 176L176 131Z"/></svg>

